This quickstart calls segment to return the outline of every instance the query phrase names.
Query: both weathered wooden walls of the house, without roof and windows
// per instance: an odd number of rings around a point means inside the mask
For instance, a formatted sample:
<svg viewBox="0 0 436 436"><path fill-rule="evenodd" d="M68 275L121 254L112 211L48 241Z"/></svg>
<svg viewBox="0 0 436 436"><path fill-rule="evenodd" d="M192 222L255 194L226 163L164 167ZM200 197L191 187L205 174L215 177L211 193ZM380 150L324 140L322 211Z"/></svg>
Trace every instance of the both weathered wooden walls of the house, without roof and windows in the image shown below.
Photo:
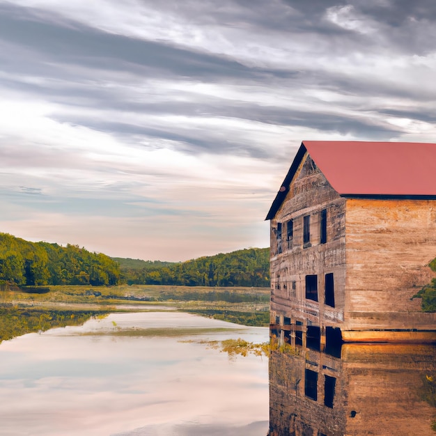
<svg viewBox="0 0 436 436"><path fill-rule="evenodd" d="M327 210L325 243L322 210ZM309 244L303 242L305 216L310 216ZM308 325L322 332L340 327L345 341L436 339L436 314L423 313L421 299L411 299L434 277L428 263L435 256L436 201L343 198L306 153L271 221L271 322L279 325L282 341L291 336L291 343L295 330ZM334 307L325 304L328 273L334 275ZM306 298L307 275L317 276L318 302Z"/></svg>

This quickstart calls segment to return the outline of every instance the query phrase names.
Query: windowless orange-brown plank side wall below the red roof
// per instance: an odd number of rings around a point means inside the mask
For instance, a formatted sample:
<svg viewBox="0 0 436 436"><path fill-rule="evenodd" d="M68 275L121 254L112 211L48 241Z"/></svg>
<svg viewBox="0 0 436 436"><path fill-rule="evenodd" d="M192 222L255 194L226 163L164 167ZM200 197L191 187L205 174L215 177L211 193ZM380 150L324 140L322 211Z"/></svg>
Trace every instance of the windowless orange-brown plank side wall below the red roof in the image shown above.
<svg viewBox="0 0 436 436"><path fill-rule="evenodd" d="M348 199L344 329L436 329L412 296L435 274L436 201Z"/></svg>

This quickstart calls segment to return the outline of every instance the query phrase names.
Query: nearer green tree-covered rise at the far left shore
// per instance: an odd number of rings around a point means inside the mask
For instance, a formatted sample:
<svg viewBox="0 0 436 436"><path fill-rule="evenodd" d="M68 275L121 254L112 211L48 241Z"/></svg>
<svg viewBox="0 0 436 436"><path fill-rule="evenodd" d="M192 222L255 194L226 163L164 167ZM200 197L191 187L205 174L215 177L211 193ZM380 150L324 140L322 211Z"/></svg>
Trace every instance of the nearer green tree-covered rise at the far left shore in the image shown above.
<svg viewBox="0 0 436 436"><path fill-rule="evenodd" d="M105 254L0 233L0 283L102 286L116 285L119 279L120 265Z"/></svg>

